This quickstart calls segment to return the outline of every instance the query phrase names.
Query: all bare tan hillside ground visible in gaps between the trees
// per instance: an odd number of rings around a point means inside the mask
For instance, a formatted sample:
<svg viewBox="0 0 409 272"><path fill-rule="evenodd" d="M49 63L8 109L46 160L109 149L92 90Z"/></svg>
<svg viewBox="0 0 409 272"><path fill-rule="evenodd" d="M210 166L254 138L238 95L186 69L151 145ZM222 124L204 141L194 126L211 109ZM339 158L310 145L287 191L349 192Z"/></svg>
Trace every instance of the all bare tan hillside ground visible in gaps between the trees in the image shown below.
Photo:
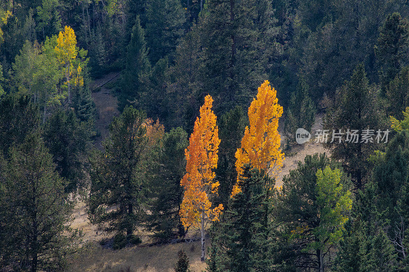
<svg viewBox="0 0 409 272"><path fill-rule="evenodd" d="M101 85L113 76L115 74L110 73L96 81L95 85ZM117 106L115 105L117 98L109 88L103 85L99 91L93 93L93 99L100 112L96 122L97 129L101 131L101 137L96 142L96 144L99 144L108 133L107 128L111 119L118 116ZM316 130L322 129L322 118L323 115L316 116L311 135L314 135ZM283 143L284 137L282 139ZM305 144L294 145L287 152L291 156L286 156L276 186L280 187L282 185L284 175L287 175L289 170L295 169L297 162L303 161L306 155L324 152L326 151L323 145L315 143L312 139ZM192 272L200 272L206 268L206 264L200 262L200 241L150 246L149 244L153 242L150 233L138 231L138 236L143 240L141 245L130 246L122 250L104 248L99 242L102 239L111 237L111 235L90 224L87 216L85 204L79 202L73 213L72 227L83 231L84 241L89 243L89 249L71 260L71 271L173 271L173 267L177 262L177 252L181 249L187 253L190 259ZM188 237L197 237L197 234L188 234Z"/></svg>

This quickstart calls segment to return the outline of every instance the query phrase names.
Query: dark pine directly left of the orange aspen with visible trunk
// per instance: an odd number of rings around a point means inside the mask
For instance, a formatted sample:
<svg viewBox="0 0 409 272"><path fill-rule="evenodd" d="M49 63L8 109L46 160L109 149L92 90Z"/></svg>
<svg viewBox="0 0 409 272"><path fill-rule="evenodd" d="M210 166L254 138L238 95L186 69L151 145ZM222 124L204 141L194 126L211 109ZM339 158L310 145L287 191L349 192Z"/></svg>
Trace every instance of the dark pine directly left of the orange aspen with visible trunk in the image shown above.
<svg viewBox="0 0 409 272"><path fill-rule="evenodd" d="M179 209L183 197L180 180L185 175L185 149L188 143L188 134L182 128L171 129L170 132L165 133L162 140L162 148L153 176L155 198L152 203L149 227L156 237L163 240L185 235Z"/></svg>

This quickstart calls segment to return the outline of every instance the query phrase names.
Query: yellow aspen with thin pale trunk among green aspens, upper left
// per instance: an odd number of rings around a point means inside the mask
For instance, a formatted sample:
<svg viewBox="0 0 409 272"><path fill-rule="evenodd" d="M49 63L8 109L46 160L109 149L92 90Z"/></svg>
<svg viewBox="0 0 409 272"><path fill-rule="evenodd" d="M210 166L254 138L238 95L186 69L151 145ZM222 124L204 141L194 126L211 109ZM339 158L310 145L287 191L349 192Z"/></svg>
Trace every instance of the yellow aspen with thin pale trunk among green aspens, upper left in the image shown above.
<svg viewBox="0 0 409 272"><path fill-rule="evenodd" d="M65 26L64 31L60 31L57 37L57 45L54 48L57 59L64 67L65 80L68 86L68 103L71 103L71 75L73 71L73 61L78 54L77 37L71 27ZM78 71L79 69L79 71ZM77 68L81 72L81 67ZM75 83L83 83L82 79L75 78Z"/></svg>

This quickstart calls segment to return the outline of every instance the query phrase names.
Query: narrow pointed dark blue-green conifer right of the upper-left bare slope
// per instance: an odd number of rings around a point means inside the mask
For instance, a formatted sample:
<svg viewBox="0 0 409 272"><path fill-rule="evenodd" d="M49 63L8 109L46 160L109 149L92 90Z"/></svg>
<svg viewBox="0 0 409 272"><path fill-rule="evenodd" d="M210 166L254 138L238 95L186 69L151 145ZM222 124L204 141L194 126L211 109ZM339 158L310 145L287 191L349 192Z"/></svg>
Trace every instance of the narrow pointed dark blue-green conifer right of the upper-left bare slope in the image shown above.
<svg viewBox="0 0 409 272"><path fill-rule="evenodd" d="M132 28L131 39L126 47L125 69L123 71L119 108L123 109L130 102L141 103L141 94L148 84L151 69L145 31L141 27L139 16Z"/></svg>

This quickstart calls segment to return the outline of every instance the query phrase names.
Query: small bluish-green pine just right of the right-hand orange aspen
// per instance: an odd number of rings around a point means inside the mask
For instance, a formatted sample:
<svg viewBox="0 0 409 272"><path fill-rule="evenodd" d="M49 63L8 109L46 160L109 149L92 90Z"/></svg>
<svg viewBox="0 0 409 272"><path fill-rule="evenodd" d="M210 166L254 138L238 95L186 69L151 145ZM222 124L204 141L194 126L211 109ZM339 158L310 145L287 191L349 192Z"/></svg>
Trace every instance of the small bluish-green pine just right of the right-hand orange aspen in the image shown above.
<svg viewBox="0 0 409 272"><path fill-rule="evenodd" d="M284 130L287 144L293 143L298 128L311 131L315 121L316 109L308 93L308 85L303 78L300 79L296 91L291 93L287 118Z"/></svg>

